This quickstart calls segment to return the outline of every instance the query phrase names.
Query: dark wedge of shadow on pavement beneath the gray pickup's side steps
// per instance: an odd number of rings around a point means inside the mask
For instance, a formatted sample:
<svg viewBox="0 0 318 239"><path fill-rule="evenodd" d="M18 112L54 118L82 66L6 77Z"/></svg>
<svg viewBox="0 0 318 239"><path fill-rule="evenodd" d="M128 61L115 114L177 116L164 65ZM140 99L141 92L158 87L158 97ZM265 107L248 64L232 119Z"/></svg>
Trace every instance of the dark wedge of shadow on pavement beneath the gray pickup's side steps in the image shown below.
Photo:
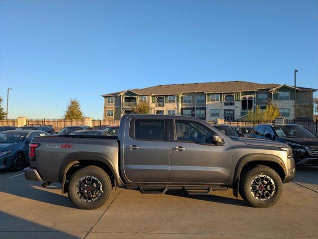
<svg viewBox="0 0 318 239"><path fill-rule="evenodd" d="M219 196L219 195L215 195L213 193L210 195L189 195L184 190L180 190L180 191L176 190L176 191L168 191L166 194L172 195L172 196L202 200L202 201L207 201L207 202L249 207L242 199Z"/></svg>

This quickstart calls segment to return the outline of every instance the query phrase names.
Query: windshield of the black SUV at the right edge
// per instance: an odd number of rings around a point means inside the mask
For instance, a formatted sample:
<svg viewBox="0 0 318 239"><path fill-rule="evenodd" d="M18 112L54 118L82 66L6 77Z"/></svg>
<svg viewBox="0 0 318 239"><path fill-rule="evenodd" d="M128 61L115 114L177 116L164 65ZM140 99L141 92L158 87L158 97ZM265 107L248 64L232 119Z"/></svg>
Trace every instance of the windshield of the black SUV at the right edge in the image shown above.
<svg viewBox="0 0 318 239"><path fill-rule="evenodd" d="M275 126L275 132L280 137L289 138L316 138L316 135L304 127L285 125L285 126Z"/></svg>

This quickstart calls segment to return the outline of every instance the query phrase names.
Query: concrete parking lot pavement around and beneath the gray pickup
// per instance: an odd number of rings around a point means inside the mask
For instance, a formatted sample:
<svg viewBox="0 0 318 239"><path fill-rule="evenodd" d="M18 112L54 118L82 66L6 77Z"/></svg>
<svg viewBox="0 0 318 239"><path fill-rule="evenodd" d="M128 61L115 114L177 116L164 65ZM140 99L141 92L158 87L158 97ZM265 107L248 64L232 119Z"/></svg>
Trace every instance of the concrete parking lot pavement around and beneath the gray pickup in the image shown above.
<svg viewBox="0 0 318 239"><path fill-rule="evenodd" d="M318 238L318 167L297 169L272 208L248 207L232 191L144 195L118 189L102 208L74 208L59 184L41 188L0 171L0 238Z"/></svg>

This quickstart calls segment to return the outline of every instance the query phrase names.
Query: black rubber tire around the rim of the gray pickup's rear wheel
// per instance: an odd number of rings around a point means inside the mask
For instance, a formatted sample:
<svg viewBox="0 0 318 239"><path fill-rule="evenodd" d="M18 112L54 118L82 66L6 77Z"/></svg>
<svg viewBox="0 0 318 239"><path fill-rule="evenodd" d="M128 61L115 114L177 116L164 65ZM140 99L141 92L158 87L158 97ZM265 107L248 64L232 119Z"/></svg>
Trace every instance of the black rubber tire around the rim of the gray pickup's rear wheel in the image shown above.
<svg viewBox="0 0 318 239"><path fill-rule="evenodd" d="M83 177L92 176L99 180L102 185L102 193L96 201L85 202L77 195L77 184ZM68 197L79 209L92 210L101 207L108 200L112 190L112 184L108 174L97 166L87 166L77 170L70 178L68 184Z"/></svg>

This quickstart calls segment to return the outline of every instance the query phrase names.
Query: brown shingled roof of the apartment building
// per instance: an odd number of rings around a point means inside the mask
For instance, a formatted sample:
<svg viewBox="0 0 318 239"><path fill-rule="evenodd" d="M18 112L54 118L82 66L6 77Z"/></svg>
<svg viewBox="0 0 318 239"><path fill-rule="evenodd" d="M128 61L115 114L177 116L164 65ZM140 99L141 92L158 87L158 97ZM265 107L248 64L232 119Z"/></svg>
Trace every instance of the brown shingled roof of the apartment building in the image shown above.
<svg viewBox="0 0 318 239"><path fill-rule="evenodd" d="M203 92L203 93L231 93L244 91L258 91L261 89L273 89L280 84L259 84L247 81L222 81L222 82L206 82L206 83L190 83L190 84L171 84L152 86L143 89L132 89L131 91L137 95L177 95L181 93ZM316 91L312 88L298 87L301 91ZM126 91L115 92L102 95L114 96L122 94Z"/></svg>

